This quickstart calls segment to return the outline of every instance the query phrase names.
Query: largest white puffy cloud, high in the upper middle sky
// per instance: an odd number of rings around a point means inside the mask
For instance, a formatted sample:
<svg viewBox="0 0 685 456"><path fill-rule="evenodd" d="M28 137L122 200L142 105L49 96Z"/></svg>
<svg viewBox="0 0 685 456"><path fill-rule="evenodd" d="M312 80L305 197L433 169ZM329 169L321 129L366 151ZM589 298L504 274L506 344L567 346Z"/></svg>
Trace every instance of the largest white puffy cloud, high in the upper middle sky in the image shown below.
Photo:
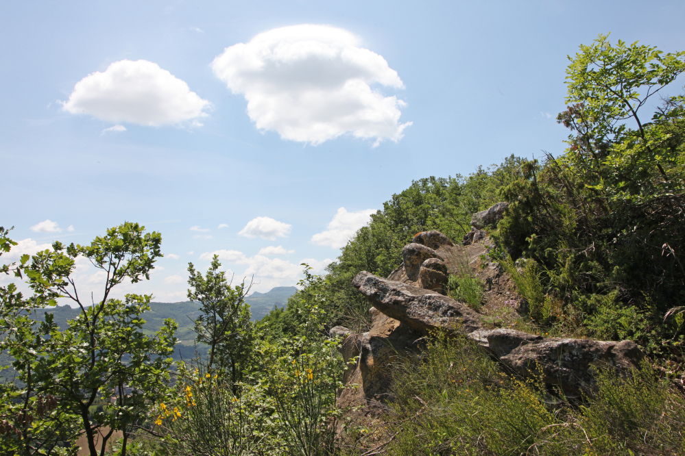
<svg viewBox="0 0 685 456"><path fill-rule="evenodd" d="M372 84L404 88L385 59L357 36L329 25L293 25L227 47L214 74L248 101L248 115L281 138L321 144L342 134L398 141L405 102ZM374 144L375 145L375 144Z"/></svg>

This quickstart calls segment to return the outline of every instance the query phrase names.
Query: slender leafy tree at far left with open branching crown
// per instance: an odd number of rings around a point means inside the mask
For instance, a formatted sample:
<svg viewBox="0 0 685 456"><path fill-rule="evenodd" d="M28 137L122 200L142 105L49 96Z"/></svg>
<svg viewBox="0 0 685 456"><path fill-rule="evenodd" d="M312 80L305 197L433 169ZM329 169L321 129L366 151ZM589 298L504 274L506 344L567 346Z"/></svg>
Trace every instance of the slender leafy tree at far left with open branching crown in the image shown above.
<svg viewBox="0 0 685 456"><path fill-rule="evenodd" d="M23 400L30 401L32 394L38 395L35 401L55 398L56 410L76 418L71 425L77 423L84 430L91 456L97 455L96 434L104 427L109 431L101 441L103 448L115 430L123 431L124 456L130 431L145 418L147 403L167 390L167 356L176 343L176 322L165 321L165 327L149 338L142 326L152 296L127 294L123 301L110 297L112 288L125 279L149 279L156 258L162 256L160 242L159 233L145 233L144 227L127 222L88 246L55 242L52 251L37 253L24 268L34 290L32 305L44 307L67 298L81 314L64 329L56 327L49 314L38 330L30 318L15 319L19 327L3 339L3 346L15 359L17 379L34 385L21 393ZM79 295L72 277L79 255L106 273L103 295L91 305ZM36 349L27 347L27 341ZM110 396L115 401L106 410L91 413L97 399Z"/></svg>

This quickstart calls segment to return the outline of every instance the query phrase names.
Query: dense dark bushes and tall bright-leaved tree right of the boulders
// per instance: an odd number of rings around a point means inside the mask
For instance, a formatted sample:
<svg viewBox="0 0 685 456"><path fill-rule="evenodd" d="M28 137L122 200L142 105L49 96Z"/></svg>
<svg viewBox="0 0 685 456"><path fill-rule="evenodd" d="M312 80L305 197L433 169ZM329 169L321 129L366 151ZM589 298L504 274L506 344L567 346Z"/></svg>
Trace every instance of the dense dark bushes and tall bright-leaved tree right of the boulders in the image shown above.
<svg viewBox="0 0 685 456"><path fill-rule="evenodd" d="M501 190L512 204L496 239L538 270L507 271L533 296L540 325L632 338L653 353L675 340L677 349L682 325L663 322L685 303L685 99L664 97L643 117L685 71L685 53L599 36L569 59L569 105L557 118L573 132L568 149L523 160L520 178Z"/></svg>

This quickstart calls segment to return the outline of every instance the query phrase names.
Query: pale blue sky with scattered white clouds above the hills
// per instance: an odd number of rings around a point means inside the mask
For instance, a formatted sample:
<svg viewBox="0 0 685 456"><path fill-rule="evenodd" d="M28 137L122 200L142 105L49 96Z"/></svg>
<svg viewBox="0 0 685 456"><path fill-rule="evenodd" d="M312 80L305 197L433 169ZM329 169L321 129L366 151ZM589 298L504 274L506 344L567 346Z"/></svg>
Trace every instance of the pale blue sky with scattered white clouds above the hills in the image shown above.
<svg viewBox="0 0 685 456"><path fill-rule="evenodd" d="M253 291L322 273L392 194L564 151L567 55L685 50L682 1L0 2L1 260L138 222L184 301L219 255ZM82 294L103 273L79 259ZM8 283L1 277L0 283ZM84 293L84 291L86 293Z"/></svg>

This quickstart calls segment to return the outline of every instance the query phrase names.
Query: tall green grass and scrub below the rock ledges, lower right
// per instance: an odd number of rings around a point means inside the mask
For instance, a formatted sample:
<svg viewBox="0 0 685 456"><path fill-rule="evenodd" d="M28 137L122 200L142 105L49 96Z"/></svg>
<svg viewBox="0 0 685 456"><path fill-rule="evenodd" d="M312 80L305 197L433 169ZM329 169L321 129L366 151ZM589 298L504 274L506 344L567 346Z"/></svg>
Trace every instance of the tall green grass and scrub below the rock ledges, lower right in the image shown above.
<svg viewBox="0 0 685 456"><path fill-rule="evenodd" d="M598 373L581 406L521 381L466 338L396 370L387 455L682 455L685 398L645 364Z"/></svg>

